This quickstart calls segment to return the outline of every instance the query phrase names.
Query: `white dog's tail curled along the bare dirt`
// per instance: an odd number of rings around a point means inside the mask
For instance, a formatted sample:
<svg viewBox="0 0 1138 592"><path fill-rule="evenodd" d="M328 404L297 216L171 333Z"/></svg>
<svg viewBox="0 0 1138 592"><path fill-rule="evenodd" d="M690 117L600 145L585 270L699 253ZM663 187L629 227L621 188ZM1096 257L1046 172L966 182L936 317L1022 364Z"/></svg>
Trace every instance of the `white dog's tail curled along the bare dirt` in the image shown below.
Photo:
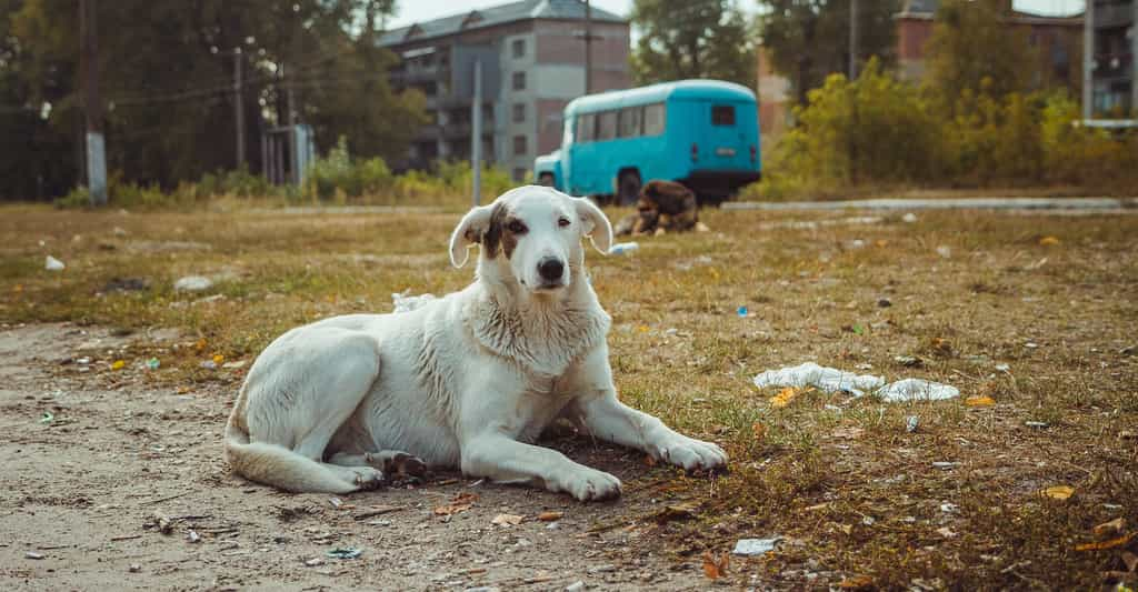
<svg viewBox="0 0 1138 592"><path fill-rule="evenodd" d="M349 493L358 489L325 465L284 447L250 442L245 408L242 387L225 424L225 460L233 472L249 481L296 493Z"/></svg>

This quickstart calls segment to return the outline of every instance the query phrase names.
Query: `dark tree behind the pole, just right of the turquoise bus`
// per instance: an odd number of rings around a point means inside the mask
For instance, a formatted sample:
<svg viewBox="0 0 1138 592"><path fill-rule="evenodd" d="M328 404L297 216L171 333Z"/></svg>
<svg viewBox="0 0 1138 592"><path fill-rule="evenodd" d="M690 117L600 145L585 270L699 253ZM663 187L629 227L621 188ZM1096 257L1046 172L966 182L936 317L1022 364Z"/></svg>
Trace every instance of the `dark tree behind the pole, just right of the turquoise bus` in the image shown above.
<svg viewBox="0 0 1138 592"><path fill-rule="evenodd" d="M800 105L830 74L849 73L849 0L759 0L758 5L762 47L775 70L791 81ZM900 0L858 5L859 61L877 57L887 66L893 62L893 15L900 5Z"/></svg>

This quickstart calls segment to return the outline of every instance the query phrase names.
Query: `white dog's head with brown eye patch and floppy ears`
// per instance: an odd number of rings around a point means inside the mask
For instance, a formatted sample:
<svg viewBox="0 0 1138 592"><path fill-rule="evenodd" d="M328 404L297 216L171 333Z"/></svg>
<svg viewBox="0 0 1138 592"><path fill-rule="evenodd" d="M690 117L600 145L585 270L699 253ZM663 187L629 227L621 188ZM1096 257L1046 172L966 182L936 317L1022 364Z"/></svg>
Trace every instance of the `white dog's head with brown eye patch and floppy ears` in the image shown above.
<svg viewBox="0 0 1138 592"><path fill-rule="evenodd" d="M506 191L488 206L471 209L451 234L451 262L462 267L467 249L481 245L481 260L509 272L526 290L551 292L571 284L585 260L580 239L596 250L612 245L609 218L586 198L527 185Z"/></svg>

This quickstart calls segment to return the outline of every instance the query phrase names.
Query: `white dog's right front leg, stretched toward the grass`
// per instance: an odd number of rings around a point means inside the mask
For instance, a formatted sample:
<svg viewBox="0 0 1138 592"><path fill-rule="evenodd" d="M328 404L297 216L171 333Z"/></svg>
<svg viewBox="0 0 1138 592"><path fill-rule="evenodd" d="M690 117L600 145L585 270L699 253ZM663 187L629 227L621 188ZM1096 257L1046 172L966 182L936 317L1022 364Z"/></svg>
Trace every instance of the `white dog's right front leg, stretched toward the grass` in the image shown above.
<svg viewBox="0 0 1138 592"><path fill-rule="evenodd" d="M594 436L643 450L657 460L686 470L715 469L727 465L727 453L718 445L687 437L660 419L620 402L612 383L607 347L589 356L572 378L571 387L580 394L568 415Z"/></svg>

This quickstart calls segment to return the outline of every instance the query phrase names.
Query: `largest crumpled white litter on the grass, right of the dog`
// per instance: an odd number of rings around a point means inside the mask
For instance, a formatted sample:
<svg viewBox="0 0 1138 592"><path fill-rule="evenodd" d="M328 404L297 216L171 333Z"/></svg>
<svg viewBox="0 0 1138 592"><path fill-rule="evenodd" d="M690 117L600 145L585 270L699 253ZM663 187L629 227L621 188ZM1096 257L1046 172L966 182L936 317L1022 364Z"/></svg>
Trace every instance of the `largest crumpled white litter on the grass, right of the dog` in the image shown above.
<svg viewBox="0 0 1138 592"><path fill-rule="evenodd" d="M960 395L960 391L948 384L941 384L921 378L905 378L885 384L881 376L872 374L858 375L851 372L818 366L808 361L800 366L791 366L777 370L767 370L753 380L759 389L767 386L793 386L802 389L814 386L826 393L848 392L863 397L872 391L885 402L904 401L940 401Z"/></svg>

